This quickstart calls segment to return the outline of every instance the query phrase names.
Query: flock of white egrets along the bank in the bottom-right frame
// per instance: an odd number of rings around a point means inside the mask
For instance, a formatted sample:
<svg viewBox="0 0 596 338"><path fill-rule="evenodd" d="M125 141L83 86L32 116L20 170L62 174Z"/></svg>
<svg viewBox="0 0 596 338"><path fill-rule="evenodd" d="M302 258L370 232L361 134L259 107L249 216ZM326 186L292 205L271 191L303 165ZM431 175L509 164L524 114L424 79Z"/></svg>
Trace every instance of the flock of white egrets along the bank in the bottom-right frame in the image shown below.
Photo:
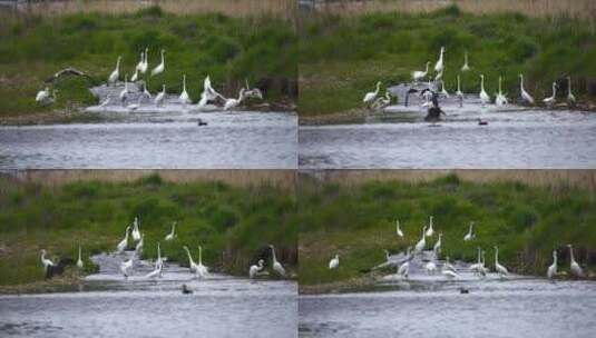
<svg viewBox="0 0 596 338"><path fill-rule="evenodd" d="M463 235L462 240L463 241L472 241L476 239L476 235L473 232L473 226L475 222L470 222L468 227L468 232ZM439 261L439 257L441 256L441 248L442 248L442 232L438 232L438 239L434 241L434 245L432 246L432 256L426 255L426 248L428 247L428 240L427 238L433 237L436 233L433 229L433 217L429 217L429 223L424 225L422 227L421 237L418 240L418 242L412 247L409 246L406 250L406 254L403 255L403 258L399 261L392 261L391 256L388 250L384 250L387 262L381 266L397 266L397 274L385 276L383 279L404 279L407 280L410 275L410 264L416 257L420 257L422 261L427 261L423 264L422 268L428 275L436 275L439 270L439 265L441 266L440 274L446 279L458 279L460 278L460 275L458 274L458 269L453 267L453 265L449 261L449 256L446 257L444 261ZM395 235L398 238L403 238L403 230L400 226L399 219L395 220ZM571 245L567 245L569 249L569 271L570 274L576 278L583 278L585 277L584 270L579 266L579 264L575 260L574 257L574 249ZM494 246L494 252L495 252L495 261L494 261L494 272L496 272L500 278L506 278L509 275L509 270L499 262L499 248L497 246ZM469 265L466 270L469 272L472 272L473 275L478 276L479 278L485 278L489 271L490 268L487 266L485 260L486 251L482 250L482 248L477 248L477 261L472 265ZM430 257L430 258L429 258ZM330 261L329 261L329 269L330 270L336 270L340 268L340 255L336 254ZM547 269L546 277L549 280L554 280L559 275L558 268L557 268L557 250L553 251L553 265L550 265Z"/></svg>

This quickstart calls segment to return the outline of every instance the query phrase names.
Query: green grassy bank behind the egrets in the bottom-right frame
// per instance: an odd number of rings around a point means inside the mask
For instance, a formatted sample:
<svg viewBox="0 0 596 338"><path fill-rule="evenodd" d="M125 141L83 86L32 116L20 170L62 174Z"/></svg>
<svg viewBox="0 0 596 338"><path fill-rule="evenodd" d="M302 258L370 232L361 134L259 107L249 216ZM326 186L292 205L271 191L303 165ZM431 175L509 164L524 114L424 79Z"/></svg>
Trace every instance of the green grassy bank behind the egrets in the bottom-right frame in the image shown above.
<svg viewBox="0 0 596 338"><path fill-rule="evenodd" d="M476 248L482 247L492 266L492 246L498 245L500 261L510 270L544 275L551 250L570 242L584 266L595 265L596 197L576 188L480 185L448 176L428 183L304 185L300 196L301 285L363 277L385 260L383 249L399 252L416 245L430 215L436 230L443 233L443 256L475 261ZM395 218L403 239L395 235ZM472 220L477 239L465 242ZM436 240L427 239L428 249ZM340 268L330 271L329 260L336 252ZM565 270L568 259L560 265Z"/></svg>

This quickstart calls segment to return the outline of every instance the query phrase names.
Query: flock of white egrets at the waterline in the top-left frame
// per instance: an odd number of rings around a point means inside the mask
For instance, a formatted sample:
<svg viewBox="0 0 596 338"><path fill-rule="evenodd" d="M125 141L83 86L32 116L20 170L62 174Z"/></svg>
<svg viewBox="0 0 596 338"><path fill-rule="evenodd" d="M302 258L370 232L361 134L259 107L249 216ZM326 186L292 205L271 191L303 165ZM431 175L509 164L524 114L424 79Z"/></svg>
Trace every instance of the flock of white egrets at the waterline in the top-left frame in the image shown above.
<svg viewBox="0 0 596 338"><path fill-rule="evenodd" d="M149 71L148 78L153 78L157 74L160 74L166 71L166 59L165 59L165 49L160 50L160 62L153 68ZM128 73L124 74L124 88L118 93L118 97L111 97L107 96L100 103L99 107L107 109L109 105L120 105L121 107L126 107L128 110L134 111L140 108L143 105L146 105L148 107L160 107L167 101L167 93L166 93L166 84L162 84L162 91L152 95L152 92L147 89L147 80L141 79L141 77L148 72L149 64L148 64L148 53L149 49L146 48L144 51L140 52L140 59L139 62L136 64L135 70L133 72L133 76L128 77ZM118 56L116 59L116 67L110 72L107 79L107 84L111 87L118 86L118 80L121 78L120 67L121 67L121 56ZM183 90L177 97L177 100L175 102L183 105L185 108L188 105L193 105L193 100L190 99L190 96L186 88L186 74L182 74L182 87ZM138 89L138 98L135 102L130 102L133 98L133 93L135 93L135 90L133 90L134 86ZM207 76L203 81L203 92L201 93L201 99L194 106L194 108L198 110L203 110L206 108L208 103L221 103L223 110L232 110L240 105L242 105L246 99L258 99L263 100L263 93L258 88L250 88L248 81L245 82L246 87L242 87L238 92L238 97L231 97L226 98L219 92L217 92L213 87L209 79L209 76ZM57 90L50 90L49 87L46 87L45 89L40 90L36 96L36 101L39 103L52 103L56 101L56 92Z"/></svg>

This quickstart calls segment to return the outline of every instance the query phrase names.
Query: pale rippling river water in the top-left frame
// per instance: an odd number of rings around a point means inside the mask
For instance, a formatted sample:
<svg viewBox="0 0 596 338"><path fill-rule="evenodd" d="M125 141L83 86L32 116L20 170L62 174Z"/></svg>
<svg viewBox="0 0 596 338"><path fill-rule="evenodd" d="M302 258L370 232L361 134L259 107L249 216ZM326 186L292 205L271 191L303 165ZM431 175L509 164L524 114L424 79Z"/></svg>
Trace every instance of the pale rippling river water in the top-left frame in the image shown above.
<svg viewBox="0 0 596 338"><path fill-rule="evenodd" d="M295 169L296 116L110 115L111 122L0 127L0 169ZM197 119L207 126L197 126Z"/></svg>

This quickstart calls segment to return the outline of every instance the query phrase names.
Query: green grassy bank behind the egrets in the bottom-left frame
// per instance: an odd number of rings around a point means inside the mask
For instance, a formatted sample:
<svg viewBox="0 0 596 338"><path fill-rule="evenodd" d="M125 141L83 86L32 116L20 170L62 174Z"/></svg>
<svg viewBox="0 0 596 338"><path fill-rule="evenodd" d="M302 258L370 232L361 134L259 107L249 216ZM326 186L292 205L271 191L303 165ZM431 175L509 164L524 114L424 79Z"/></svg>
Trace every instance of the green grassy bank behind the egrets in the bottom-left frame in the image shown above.
<svg viewBox="0 0 596 338"><path fill-rule="evenodd" d="M2 286L42 280L42 248L55 258L75 259L79 242L85 257L114 251L135 216L145 233L144 258L155 258L160 241L162 255L187 266L183 246L196 259L201 243L207 266L244 276L274 243L287 268L296 265L295 198L286 189L170 183L159 176L133 183L88 181L55 188L1 178L0 187ZM178 238L166 242L174 220ZM92 271L87 258L86 266Z"/></svg>

